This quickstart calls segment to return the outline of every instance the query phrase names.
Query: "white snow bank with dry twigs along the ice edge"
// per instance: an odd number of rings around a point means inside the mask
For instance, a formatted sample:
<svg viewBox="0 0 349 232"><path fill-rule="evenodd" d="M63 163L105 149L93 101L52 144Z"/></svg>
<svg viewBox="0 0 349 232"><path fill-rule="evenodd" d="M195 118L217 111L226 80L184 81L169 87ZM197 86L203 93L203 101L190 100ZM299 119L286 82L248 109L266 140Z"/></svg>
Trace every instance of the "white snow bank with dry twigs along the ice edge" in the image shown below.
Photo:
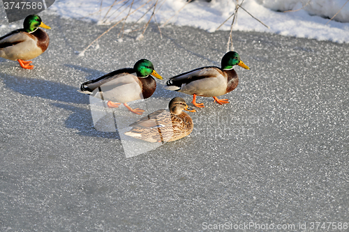
<svg viewBox="0 0 349 232"><path fill-rule="evenodd" d="M131 13L139 9L127 17L127 22L140 20L144 13L146 15L140 22L147 22L153 13L151 7L156 0L103 0L102 6L101 1L96 0L57 0L49 9L64 17L85 17L104 24L126 17L131 2L133 2ZM234 13L234 2L212 0L187 3L185 0L158 0L155 19L159 24L168 22L215 31ZM115 5L110 10L113 3ZM270 26L270 29L240 9L233 30L265 31L284 36L349 42L349 3L336 15L334 18L336 21L332 20L327 24L329 17L333 17L345 3L346 0L245 0L243 7ZM98 12L100 9L102 10ZM285 10L295 11L283 13ZM152 20L154 22L154 17ZM221 26L220 30L230 30L231 22L232 18Z"/></svg>

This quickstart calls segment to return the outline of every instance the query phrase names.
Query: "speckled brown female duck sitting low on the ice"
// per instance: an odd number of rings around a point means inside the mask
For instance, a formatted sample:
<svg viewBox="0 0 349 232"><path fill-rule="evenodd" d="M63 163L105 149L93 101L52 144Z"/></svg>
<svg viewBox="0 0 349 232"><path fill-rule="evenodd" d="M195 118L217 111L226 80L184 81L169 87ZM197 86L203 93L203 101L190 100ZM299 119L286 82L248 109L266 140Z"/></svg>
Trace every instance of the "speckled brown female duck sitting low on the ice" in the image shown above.
<svg viewBox="0 0 349 232"><path fill-rule="evenodd" d="M183 98L172 98L166 109L160 109L129 125L131 130L124 134L149 142L174 141L186 137L193 131L193 120L183 110L188 109Z"/></svg>

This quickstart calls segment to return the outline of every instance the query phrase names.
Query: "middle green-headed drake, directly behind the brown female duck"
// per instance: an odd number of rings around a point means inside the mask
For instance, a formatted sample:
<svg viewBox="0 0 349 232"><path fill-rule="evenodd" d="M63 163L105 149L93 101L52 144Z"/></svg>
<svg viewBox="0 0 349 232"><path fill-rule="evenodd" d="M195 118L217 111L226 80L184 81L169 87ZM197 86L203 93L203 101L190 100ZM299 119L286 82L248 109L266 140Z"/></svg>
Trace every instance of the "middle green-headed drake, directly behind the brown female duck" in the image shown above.
<svg viewBox="0 0 349 232"><path fill-rule="evenodd" d="M121 103L124 103L129 111L143 114L143 109L132 109L127 102L146 99L153 95L156 81L152 76L163 79L154 70L151 61L140 59L133 68L115 70L103 77L82 83L80 92L96 97L102 95L103 100L108 101L107 106L110 108L119 107ZM101 93L101 95L96 93Z"/></svg>

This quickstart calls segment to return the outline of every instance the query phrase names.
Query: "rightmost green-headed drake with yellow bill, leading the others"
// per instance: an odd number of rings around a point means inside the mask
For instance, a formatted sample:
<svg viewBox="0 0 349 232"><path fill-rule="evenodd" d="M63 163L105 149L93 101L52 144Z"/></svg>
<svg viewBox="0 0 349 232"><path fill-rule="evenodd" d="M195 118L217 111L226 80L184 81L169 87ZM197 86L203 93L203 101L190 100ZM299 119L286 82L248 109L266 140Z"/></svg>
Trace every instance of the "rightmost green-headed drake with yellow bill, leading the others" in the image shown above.
<svg viewBox="0 0 349 232"><path fill-rule="evenodd" d="M196 102L196 96L213 97L220 105L229 103L228 99L218 99L217 96L229 93L237 87L239 78L233 66L239 65L248 70L250 68L242 62L237 52L227 52L221 65L222 68L207 66L171 77L165 88L193 95L192 103L195 107L204 107L203 103Z"/></svg>

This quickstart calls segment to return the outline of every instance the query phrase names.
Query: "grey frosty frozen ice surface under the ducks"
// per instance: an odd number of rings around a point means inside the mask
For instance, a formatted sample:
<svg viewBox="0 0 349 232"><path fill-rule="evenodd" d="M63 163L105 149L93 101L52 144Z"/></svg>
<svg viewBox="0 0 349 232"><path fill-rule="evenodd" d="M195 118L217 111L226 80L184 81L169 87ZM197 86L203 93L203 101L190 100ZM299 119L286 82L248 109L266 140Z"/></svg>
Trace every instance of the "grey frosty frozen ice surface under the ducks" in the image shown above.
<svg viewBox="0 0 349 232"><path fill-rule="evenodd" d="M77 56L109 26L41 16L50 46L34 70L0 59L0 231L348 222L348 44L236 31L251 70L235 68L231 103L198 98L190 136L126 158L118 133L94 129L80 84L141 58L165 80L220 65L228 32L166 26L161 38L150 24L119 43L116 27ZM154 100L191 102L165 80Z"/></svg>

